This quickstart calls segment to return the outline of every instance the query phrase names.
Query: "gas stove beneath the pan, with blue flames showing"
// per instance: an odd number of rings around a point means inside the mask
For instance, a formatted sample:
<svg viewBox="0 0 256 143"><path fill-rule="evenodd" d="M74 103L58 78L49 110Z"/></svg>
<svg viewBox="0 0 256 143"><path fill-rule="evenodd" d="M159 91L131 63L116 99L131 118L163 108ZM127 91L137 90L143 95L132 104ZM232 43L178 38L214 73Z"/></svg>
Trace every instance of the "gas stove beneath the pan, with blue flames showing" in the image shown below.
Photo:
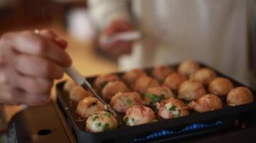
<svg viewBox="0 0 256 143"><path fill-rule="evenodd" d="M256 113L253 116L256 119ZM161 130L153 132L146 137L134 139L133 142L170 142L170 134L178 134L178 132L191 132L195 134L189 138L176 137L175 142L255 142L256 140L256 126L251 124L245 129L232 129L221 132L209 132L209 134L200 135L200 132L195 132L194 129L204 129L207 127L218 127L221 125L220 121L213 124L190 124L188 127L180 131ZM203 130L206 133L205 130ZM202 131L202 132L203 132ZM157 136L159 139L150 140ZM173 141L173 136L171 137ZM76 137L73 136L72 131L68 127L64 115L58 109L57 104L49 103L40 107L32 107L26 109L13 117L9 123L7 134L7 142L62 142L73 143L76 142Z"/></svg>

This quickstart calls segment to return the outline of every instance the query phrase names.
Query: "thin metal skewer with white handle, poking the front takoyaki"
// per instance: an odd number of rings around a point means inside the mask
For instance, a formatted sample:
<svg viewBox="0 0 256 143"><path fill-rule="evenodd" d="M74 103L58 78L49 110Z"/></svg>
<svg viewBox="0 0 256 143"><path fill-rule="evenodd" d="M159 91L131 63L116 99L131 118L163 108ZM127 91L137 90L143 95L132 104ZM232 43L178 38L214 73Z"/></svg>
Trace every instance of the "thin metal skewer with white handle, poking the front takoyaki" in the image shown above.
<svg viewBox="0 0 256 143"><path fill-rule="evenodd" d="M75 69L73 66L70 66L68 68L65 68L65 73L68 74L68 76L73 79L77 84L81 85L83 89L86 89L87 91L91 92L101 103L104 104L104 108L111 112L111 114L114 115L114 117L117 119L117 121L122 122L121 117L119 117L118 114L110 107L109 104L107 104L104 99L102 99L96 92L93 91L91 84L86 80L85 77L80 74L80 72Z"/></svg>

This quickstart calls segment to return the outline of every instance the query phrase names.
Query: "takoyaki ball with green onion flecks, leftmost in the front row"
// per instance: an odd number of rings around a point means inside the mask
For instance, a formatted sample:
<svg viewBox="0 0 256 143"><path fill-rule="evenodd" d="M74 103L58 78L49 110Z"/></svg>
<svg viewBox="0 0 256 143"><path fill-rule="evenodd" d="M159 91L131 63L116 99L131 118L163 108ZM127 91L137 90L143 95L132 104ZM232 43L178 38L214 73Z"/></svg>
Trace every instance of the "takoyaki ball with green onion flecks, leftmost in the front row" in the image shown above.
<svg viewBox="0 0 256 143"><path fill-rule="evenodd" d="M116 129L117 126L118 122L111 113L101 111L88 117L86 121L86 132L104 132Z"/></svg>

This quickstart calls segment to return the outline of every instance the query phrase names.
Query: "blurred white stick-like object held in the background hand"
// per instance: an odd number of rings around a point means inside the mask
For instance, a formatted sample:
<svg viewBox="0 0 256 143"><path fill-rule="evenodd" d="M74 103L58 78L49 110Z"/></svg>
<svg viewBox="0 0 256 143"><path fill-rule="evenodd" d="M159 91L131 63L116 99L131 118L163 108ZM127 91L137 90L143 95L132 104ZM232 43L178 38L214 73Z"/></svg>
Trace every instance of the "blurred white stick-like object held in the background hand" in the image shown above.
<svg viewBox="0 0 256 143"><path fill-rule="evenodd" d="M103 36L101 42L104 44L109 44L116 40L136 41L141 39L141 36L142 34L140 33L140 31L127 31L119 34L114 34L113 36Z"/></svg>

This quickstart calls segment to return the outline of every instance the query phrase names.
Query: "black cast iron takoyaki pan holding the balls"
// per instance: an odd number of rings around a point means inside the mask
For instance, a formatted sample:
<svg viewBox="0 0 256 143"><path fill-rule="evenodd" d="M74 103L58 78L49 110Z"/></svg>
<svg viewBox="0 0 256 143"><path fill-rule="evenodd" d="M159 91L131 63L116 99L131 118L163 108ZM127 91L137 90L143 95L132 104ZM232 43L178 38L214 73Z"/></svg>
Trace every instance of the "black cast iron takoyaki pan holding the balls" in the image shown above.
<svg viewBox="0 0 256 143"><path fill-rule="evenodd" d="M177 69L178 64L170 65L173 69ZM208 67L216 72L219 77L226 77L232 81L234 87L244 86L243 84L235 81L234 79L227 77L224 74L221 74L219 71L201 64L201 67ZM145 69L148 75L152 68ZM118 76L124 74L124 72L115 73ZM93 84L96 77L89 77L88 82ZM178 117L174 119L163 119L157 122L152 122L149 124L140 124L133 127L127 127L124 124L120 125L118 129L114 129L109 132L100 132L100 133L91 133L85 132L84 122L77 122L79 120L78 115L76 114L76 104L70 101L69 95L63 90L63 85L65 82L60 82L57 84L56 90L58 95L58 106L63 111L65 118L68 121L71 131L76 136L78 142L134 142L134 139L140 139L146 137L152 132L159 132L163 129L168 129L172 131L181 131L183 128L187 127L190 124L201 123L201 124L213 124L214 122L221 122L219 126L208 127L205 129L197 129L193 132L183 132L182 134L177 134L172 136L173 141L177 139L186 139L193 136L204 137L207 134L212 132L220 132L227 129L235 129L234 121L237 119L244 119L244 117L249 116L252 112L256 111L256 104L244 104L237 107L228 107L227 104L224 104L223 109L219 109L212 112L198 113L191 111L191 114L186 117ZM255 91L252 90L252 93L255 95ZM221 98L224 100L224 98ZM121 114L124 116L124 114ZM160 137L155 137L159 139ZM146 140L145 142L151 142L154 139ZM170 141L170 140L169 140Z"/></svg>

